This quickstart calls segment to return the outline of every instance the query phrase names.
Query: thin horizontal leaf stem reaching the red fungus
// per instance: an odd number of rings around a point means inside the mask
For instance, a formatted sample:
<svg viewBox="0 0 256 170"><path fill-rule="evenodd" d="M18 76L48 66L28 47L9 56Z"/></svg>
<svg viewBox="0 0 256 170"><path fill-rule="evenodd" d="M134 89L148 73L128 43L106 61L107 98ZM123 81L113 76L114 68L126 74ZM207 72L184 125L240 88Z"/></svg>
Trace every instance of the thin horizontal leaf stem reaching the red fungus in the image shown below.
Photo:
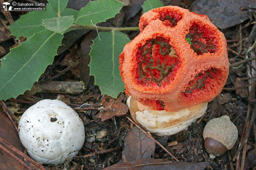
<svg viewBox="0 0 256 170"><path fill-rule="evenodd" d="M76 25L76 24L73 24L67 30L72 29L72 28L96 30L96 27L93 26L93 25L81 26L81 25ZM97 28L98 28L98 30L102 30L102 31L112 31L112 30L117 30L117 31L136 31L136 30L140 29L138 26L137 27L105 27L105 26L97 26Z"/></svg>

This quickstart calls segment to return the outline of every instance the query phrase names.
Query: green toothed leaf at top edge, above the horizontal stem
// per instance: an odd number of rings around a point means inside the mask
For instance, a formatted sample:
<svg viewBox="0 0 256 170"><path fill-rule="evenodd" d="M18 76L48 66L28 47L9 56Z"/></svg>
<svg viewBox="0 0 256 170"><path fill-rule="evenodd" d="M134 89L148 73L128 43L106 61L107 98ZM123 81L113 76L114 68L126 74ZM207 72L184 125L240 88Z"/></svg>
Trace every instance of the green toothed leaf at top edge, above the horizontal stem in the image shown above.
<svg viewBox="0 0 256 170"><path fill-rule="evenodd" d="M123 5L124 3L116 0L90 1L78 12L76 23L85 26L104 22L109 18L115 17Z"/></svg>

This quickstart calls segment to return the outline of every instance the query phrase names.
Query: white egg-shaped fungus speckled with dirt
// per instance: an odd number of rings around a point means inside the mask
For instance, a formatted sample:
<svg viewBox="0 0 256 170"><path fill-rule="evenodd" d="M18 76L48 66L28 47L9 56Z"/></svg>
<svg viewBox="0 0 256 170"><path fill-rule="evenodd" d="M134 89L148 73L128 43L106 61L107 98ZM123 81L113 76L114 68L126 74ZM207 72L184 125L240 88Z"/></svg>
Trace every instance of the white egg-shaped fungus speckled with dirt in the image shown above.
<svg viewBox="0 0 256 170"><path fill-rule="evenodd" d="M73 159L84 144L84 124L60 100L41 100L20 118L20 141L35 161L62 164Z"/></svg>

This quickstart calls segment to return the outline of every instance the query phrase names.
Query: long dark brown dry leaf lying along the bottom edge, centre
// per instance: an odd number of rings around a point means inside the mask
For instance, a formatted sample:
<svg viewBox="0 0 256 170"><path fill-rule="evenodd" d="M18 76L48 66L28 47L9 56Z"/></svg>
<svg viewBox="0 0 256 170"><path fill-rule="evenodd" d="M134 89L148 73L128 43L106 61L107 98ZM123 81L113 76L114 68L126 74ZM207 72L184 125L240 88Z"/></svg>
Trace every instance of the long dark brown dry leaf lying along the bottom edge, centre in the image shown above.
<svg viewBox="0 0 256 170"><path fill-rule="evenodd" d="M191 162L174 162L165 159L148 159L143 158L131 162L119 163L103 170L110 169L124 169L124 170L148 170L148 169L168 169L168 170L204 170L209 162L199 162L199 163L191 163Z"/></svg>

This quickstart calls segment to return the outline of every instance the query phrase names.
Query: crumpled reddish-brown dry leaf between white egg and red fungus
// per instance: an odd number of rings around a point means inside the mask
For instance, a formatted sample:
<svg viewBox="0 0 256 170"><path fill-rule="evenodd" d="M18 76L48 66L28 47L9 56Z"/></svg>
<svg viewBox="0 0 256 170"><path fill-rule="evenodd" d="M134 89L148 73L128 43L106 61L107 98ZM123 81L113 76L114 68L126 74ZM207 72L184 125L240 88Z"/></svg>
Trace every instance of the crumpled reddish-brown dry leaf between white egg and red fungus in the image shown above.
<svg viewBox="0 0 256 170"><path fill-rule="evenodd" d="M124 100L124 93L119 94L116 99L104 95L101 101L102 107L100 107L100 112L97 117L101 118L102 121L105 121L113 116L125 115L129 108L122 103L122 100Z"/></svg>

